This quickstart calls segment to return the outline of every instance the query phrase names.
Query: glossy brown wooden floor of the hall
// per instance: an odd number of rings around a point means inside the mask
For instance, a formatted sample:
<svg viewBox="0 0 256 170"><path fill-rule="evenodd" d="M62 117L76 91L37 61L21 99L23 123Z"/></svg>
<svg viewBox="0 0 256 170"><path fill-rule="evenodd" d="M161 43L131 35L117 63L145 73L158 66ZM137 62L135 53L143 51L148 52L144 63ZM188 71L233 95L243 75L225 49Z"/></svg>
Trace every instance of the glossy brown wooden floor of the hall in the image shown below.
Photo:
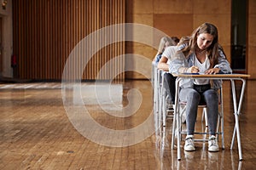
<svg viewBox="0 0 256 170"><path fill-rule="evenodd" d="M82 85L86 87L88 84ZM104 103L105 108L102 108L101 105L96 104L93 97L90 96L87 100L86 96L84 97L84 105L90 112L91 118L106 129L123 131L136 128L152 115L154 102L150 82L125 82L121 87L122 91L114 94L113 100L118 106L123 106L123 109L116 109L109 105L108 101ZM128 93L134 88L140 90L141 95ZM238 85L237 89L239 88L241 87ZM234 149L230 150L234 116L228 82L224 82L225 150L209 153L205 148L207 144L196 143L195 152L184 153L182 150L181 161L177 161L177 150L171 150L172 120L168 120L168 126L164 129L166 138L163 138L160 128L152 122L156 127L152 135L137 142L136 138L129 139L127 133L126 139L121 138L124 142L123 147L116 138L102 135L99 128L87 126L83 132L87 134L90 132L94 139L102 141L100 144L97 140L90 139L91 136L85 138L86 134L79 132L78 127L73 126L70 121L72 119L70 111L68 113L65 107L67 101L63 101L62 97L59 82L0 84L0 169L155 170L255 169L256 167L255 81L247 81L240 116L243 161L238 159L236 143ZM139 103L138 99L143 99L142 103ZM139 107L135 108L136 111L131 116L129 111L132 109L126 110L128 116L124 116L125 107L129 106L128 101L134 105L139 104ZM106 114L104 109L112 112ZM83 126L86 127L86 121L81 125ZM131 142L125 143L126 140Z"/></svg>

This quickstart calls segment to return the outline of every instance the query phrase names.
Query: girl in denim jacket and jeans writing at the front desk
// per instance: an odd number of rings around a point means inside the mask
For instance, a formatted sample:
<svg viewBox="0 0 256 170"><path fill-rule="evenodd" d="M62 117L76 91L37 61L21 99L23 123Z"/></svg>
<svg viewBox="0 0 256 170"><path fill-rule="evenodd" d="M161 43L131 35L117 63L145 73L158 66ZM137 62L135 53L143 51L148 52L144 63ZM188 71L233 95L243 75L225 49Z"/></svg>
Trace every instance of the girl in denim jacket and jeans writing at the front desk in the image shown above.
<svg viewBox="0 0 256 170"><path fill-rule="evenodd" d="M231 73L223 49L218 44L218 30L210 23L199 26L191 35L188 46L178 51L169 65L172 73L217 74ZM201 101L207 104L207 118L210 137L208 150L218 151L216 128L218 122L218 88L220 81L213 81L211 87L208 79L183 79L180 83L180 100L187 103L186 123L187 136L184 150L195 150L194 132L198 105Z"/></svg>

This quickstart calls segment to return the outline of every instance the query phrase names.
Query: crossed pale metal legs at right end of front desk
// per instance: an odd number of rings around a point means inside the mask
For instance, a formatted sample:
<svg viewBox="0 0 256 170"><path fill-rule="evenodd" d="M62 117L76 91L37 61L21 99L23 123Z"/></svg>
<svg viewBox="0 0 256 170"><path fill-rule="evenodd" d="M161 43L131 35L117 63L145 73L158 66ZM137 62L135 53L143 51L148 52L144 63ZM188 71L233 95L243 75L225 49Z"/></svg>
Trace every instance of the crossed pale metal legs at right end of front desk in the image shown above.
<svg viewBox="0 0 256 170"><path fill-rule="evenodd" d="M243 94L244 94L244 90L245 90L245 80L241 80L242 81L242 88L241 88L241 95L240 95L240 99L239 99L239 105L238 105L238 109L237 109L237 104L236 104L236 88L235 88L235 82L234 80L231 80L231 88L232 88L232 95L233 95L233 104L234 104L234 115L235 115L235 127L234 127L234 133L233 133L233 137L232 137L232 142L231 142L231 146L230 149L232 150L233 148L233 144L234 144L234 140L235 137L237 138L237 145L238 145L238 152L239 152L239 160L242 160L242 153L241 153L241 138L240 138L240 129L239 129L239 114L241 111L241 103L242 103L242 99L243 99ZM236 134L236 135L235 135Z"/></svg>

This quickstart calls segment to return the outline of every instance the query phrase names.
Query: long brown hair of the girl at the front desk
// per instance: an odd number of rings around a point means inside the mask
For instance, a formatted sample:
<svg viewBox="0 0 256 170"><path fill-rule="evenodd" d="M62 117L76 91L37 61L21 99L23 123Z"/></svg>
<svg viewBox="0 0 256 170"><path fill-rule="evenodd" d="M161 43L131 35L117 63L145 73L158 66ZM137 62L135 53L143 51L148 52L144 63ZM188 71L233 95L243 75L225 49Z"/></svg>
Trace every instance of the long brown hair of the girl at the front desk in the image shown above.
<svg viewBox="0 0 256 170"><path fill-rule="evenodd" d="M210 23L204 23L199 26L195 31L192 32L189 45L183 49L183 54L188 57L190 54L195 53L195 48L197 46L197 37L202 34L207 33L211 34L213 37L212 44L207 48L207 55L210 60L210 68L213 68L214 65L218 64L218 29L216 26Z"/></svg>

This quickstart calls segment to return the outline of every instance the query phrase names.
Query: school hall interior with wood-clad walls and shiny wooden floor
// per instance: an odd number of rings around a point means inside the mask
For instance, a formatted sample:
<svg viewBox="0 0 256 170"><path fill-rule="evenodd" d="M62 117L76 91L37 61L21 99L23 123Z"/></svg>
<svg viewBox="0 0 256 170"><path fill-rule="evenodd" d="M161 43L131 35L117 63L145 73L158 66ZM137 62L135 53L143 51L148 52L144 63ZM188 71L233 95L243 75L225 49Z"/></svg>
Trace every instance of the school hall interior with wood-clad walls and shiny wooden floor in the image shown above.
<svg viewBox="0 0 256 170"><path fill-rule="evenodd" d="M2 0L0 168L253 169L255 8L253 0ZM233 79L218 76L219 151L206 140L188 152L173 131L186 122L173 122L180 110L168 110L153 60L161 37L190 36L205 22L218 28ZM202 111L195 128L207 132Z"/></svg>

